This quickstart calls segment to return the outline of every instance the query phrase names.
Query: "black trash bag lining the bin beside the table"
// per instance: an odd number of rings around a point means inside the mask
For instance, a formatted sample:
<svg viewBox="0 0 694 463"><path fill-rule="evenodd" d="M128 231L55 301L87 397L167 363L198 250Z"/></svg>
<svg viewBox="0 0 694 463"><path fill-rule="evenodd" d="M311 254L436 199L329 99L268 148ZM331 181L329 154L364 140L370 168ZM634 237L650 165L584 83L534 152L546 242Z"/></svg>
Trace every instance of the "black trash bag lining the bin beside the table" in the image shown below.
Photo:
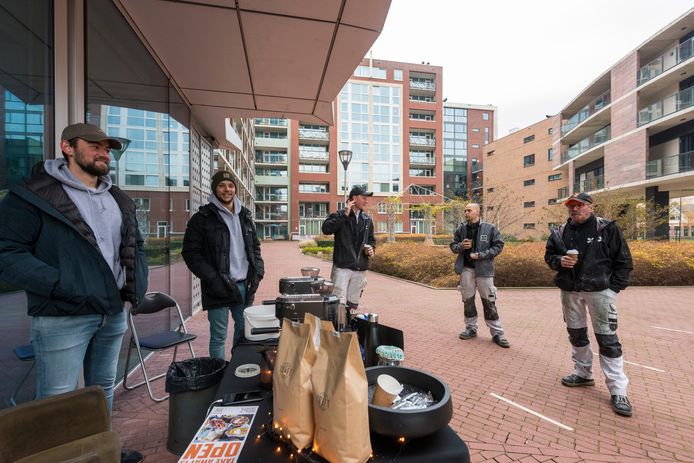
<svg viewBox="0 0 694 463"><path fill-rule="evenodd" d="M166 371L166 392L201 391L222 380L227 361L211 357L171 362Z"/></svg>

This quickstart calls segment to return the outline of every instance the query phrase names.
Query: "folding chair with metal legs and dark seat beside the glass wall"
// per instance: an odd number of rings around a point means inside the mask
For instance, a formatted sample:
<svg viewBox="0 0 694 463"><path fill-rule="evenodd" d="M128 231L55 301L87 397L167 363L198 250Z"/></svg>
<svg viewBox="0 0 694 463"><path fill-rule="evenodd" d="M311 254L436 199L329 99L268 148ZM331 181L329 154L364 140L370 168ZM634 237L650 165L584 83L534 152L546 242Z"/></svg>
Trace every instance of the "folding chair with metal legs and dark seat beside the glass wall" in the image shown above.
<svg viewBox="0 0 694 463"><path fill-rule="evenodd" d="M175 330L168 330L168 331L160 331L157 333L153 333L144 337L140 337L137 333L137 327L135 325L135 317L140 315L146 315L146 314L154 314L157 312L160 312L164 309L168 309L171 307L176 307L176 313L178 313L178 328ZM162 378L166 375L166 372L154 376L152 378L149 377L147 374L147 370L145 368L145 360L142 355L142 349L148 349L152 351L160 351L160 350L165 350L165 349L170 349L174 348L174 356L173 356L173 361L176 361L176 353L178 351L178 346L181 344L188 344L188 348L190 349L190 354L195 358L195 352L193 352L193 344L192 341L193 339L197 338L196 335L188 333L186 330L186 325L185 321L183 320L183 314L181 313L181 308L179 307L178 303L168 294L165 293L147 293L145 294L144 299L142 302L137 307L131 307L130 310L128 311L128 326L130 327L130 343L128 345L128 355L126 357L125 361L125 372L123 373L123 389L125 390L133 390L136 387L142 386L143 384L147 385L147 392L149 393L149 396L152 400L155 402L161 402L163 400L166 400L169 395L166 394L163 397L154 397L154 394L152 393L152 386L151 382ZM144 376L144 381L140 381L137 384L133 385L128 385L128 376L132 373L128 373L128 365L130 364L130 355L132 353L133 347L137 351L137 356L139 358L139 366L142 367L142 375ZM137 366L135 365L135 368L133 368L133 371L137 369Z"/></svg>

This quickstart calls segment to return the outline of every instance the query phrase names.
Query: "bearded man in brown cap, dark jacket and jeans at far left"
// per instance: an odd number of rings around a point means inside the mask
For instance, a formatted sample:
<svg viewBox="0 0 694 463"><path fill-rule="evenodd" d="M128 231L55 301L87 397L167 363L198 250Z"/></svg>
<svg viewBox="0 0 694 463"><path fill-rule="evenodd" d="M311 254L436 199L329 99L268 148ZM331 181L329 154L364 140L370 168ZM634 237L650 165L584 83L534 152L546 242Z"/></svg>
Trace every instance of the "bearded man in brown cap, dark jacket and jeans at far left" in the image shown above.
<svg viewBox="0 0 694 463"><path fill-rule="evenodd" d="M110 150L121 140L90 124L61 135L63 159L36 164L0 204L0 279L27 293L36 397L104 389L109 412L123 334L123 304L147 289L135 204L111 183ZM142 461L123 451L121 460Z"/></svg>

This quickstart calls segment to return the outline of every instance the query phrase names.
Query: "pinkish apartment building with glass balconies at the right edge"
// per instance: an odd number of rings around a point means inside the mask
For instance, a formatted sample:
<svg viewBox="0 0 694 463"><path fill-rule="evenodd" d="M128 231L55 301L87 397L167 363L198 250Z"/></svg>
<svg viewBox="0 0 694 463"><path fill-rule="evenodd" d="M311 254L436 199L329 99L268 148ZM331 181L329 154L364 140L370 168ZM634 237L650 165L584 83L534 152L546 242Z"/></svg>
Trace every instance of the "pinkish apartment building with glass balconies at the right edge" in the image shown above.
<svg viewBox="0 0 694 463"><path fill-rule="evenodd" d="M554 169L569 194L607 189L659 206L694 195L694 9L665 26L559 113ZM668 225L653 231L668 236Z"/></svg>

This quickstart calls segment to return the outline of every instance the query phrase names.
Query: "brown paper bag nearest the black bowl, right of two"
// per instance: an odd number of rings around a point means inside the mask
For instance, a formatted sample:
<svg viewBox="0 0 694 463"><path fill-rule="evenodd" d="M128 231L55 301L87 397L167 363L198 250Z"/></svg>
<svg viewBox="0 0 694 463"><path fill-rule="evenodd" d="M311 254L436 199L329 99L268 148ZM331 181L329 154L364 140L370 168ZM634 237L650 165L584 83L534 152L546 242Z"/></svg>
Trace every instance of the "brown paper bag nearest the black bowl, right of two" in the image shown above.
<svg viewBox="0 0 694 463"><path fill-rule="evenodd" d="M356 333L321 330L311 383L316 417L313 451L331 463L368 460L369 385Z"/></svg>

